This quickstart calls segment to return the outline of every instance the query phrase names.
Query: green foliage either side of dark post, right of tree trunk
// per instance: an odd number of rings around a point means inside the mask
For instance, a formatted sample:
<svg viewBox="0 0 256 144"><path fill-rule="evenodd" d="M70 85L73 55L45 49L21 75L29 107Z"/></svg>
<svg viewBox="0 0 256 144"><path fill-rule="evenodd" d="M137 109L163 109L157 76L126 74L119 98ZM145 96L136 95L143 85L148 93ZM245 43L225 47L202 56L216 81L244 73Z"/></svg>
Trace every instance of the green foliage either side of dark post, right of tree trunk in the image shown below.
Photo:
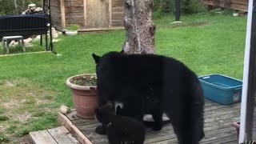
<svg viewBox="0 0 256 144"><path fill-rule="evenodd" d="M154 0L154 11L175 14L175 0ZM182 14L195 14L205 11L200 0L181 0Z"/></svg>

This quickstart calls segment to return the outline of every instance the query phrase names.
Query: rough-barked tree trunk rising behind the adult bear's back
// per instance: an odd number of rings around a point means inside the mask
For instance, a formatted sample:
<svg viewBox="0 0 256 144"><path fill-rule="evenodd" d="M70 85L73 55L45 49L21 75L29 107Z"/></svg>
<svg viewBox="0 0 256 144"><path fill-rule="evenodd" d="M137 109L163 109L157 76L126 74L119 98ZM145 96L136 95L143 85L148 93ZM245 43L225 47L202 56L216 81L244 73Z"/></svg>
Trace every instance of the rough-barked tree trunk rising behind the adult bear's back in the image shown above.
<svg viewBox="0 0 256 144"><path fill-rule="evenodd" d="M154 54L152 22L154 0L124 0L126 42L122 50L127 54Z"/></svg>

